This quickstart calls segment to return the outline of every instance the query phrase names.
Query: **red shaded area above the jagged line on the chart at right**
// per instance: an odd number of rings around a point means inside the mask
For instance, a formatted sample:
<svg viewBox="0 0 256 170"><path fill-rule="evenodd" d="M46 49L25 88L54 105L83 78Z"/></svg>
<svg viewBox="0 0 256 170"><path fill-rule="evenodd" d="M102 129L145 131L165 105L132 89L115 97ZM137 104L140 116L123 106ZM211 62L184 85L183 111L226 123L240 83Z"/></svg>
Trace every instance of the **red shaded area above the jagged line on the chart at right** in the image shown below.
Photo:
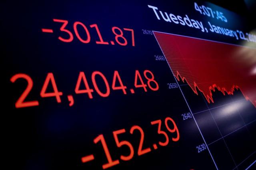
<svg viewBox="0 0 256 170"><path fill-rule="evenodd" d="M198 94L196 87L210 103L216 89L229 95L240 89L256 107L256 49L154 32L166 59L180 81Z"/></svg>

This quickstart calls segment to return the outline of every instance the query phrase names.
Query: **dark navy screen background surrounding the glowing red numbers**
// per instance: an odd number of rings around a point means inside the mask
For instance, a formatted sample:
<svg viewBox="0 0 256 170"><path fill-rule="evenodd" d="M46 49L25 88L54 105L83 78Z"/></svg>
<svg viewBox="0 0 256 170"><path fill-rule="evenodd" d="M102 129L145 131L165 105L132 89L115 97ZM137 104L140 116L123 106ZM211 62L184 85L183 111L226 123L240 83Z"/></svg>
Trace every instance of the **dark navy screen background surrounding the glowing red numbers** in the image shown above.
<svg viewBox="0 0 256 170"><path fill-rule="evenodd" d="M198 2L199 3L199 2ZM204 143L193 119L182 120L182 113L189 112L180 89L168 89L167 83L175 83L174 76L166 61L156 61L154 55L162 55L161 49L153 35L142 34L144 30L156 30L174 34L224 41L239 44L234 38L226 38L211 33L202 33L197 29L179 26L157 20L152 9L147 5L157 6L162 11L184 16L204 22L209 20L194 10L194 2L166 2L166 1L43 1L43 2L4 2L1 5L1 71L2 84L2 120L5 157L9 166L27 170L50 169L102 169L107 162L101 144L94 144L93 139L104 134L113 160L120 159L120 155L129 154L125 147L118 148L114 142L112 131L122 128L126 134L120 135L120 140L128 140L134 146L134 157L130 161L120 160L120 164L111 169L215 169L208 150L197 153L196 146ZM218 10L223 10L214 6ZM224 10L228 23L217 20L213 24L233 30L248 31L246 20L237 14ZM130 32L124 32L128 45L100 45L94 29L89 29L91 42L81 43L75 36L70 43L58 40L58 36L65 36L59 31L60 23L52 19L68 20L67 28L72 30L72 24L82 22L88 28L91 24L98 24L105 41L114 41L111 28L134 29L135 47L131 45ZM42 28L54 30L53 34L43 33ZM81 30L82 32L82 30ZM124 85L134 88L135 70L154 73L159 84L158 91L144 92L142 88L135 89L135 94L128 91L124 95L121 90L111 90L107 98L100 97L95 91L93 99L87 94L75 94L74 89L78 74L84 71L88 79L93 71L101 71L111 85L113 73L118 70ZM54 73L59 91L63 92L62 103L56 98L41 98L40 91L47 73ZM16 109L14 103L26 88L24 80L10 82L10 77L16 73L26 73L32 77L34 86L27 100L38 100L37 107ZM144 79L146 82L146 79ZM102 81L99 88L104 89ZM93 87L92 81L89 81ZM186 91L182 86L182 91ZM51 89L48 89L49 91ZM74 106L68 106L67 95L74 96ZM240 96L236 91L234 96ZM192 112L201 111L205 107L202 99L191 89L185 92ZM200 98L200 99L199 99ZM222 99L222 100L221 100ZM230 102L230 97L214 94L214 101L221 101L218 105ZM255 107L248 104L248 111L255 114ZM214 104L209 104L214 107ZM180 131L180 140L168 146L152 148L152 144L163 141L162 135L157 134L157 127L150 125L151 121L172 117ZM250 119L254 117L251 116ZM197 118L196 118L197 119ZM198 118L199 119L199 118ZM231 120L232 121L232 120ZM133 125L143 128L145 139L143 146L150 147L151 152L138 156L140 134L129 134ZM255 150L255 123L251 125L248 150ZM163 127L163 126L162 126ZM163 127L164 129L164 127ZM204 127L204 129L206 129ZM210 130L209 130L210 129ZM166 129L165 129L166 130ZM211 135L214 130L208 127ZM246 131L247 132L247 131ZM204 135L204 134L203 134ZM170 134L171 138L171 134ZM235 136L230 145L241 144L243 138ZM207 142L207 141L206 141ZM227 158L220 149L223 144L212 146L216 164L222 168L234 168L232 160ZM234 146L236 148L236 146ZM236 150L236 149L234 149ZM234 151L236 152L236 151ZM246 156L237 150L238 160L241 162ZM247 152L246 152L247 153ZM249 153L249 152L248 152ZM82 156L94 154L95 160L83 164ZM255 154L254 154L255 160ZM244 162L244 167L253 160ZM222 163L226 160L226 163ZM231 163L230 163L231 162ZM243 164L242 164L243 165ZM228 168L227 168L228 167ZM241 166L242 167L242 166ZM239 167L238 167L239 168ZM241 168L242 169L242 168Z"/></svg>

